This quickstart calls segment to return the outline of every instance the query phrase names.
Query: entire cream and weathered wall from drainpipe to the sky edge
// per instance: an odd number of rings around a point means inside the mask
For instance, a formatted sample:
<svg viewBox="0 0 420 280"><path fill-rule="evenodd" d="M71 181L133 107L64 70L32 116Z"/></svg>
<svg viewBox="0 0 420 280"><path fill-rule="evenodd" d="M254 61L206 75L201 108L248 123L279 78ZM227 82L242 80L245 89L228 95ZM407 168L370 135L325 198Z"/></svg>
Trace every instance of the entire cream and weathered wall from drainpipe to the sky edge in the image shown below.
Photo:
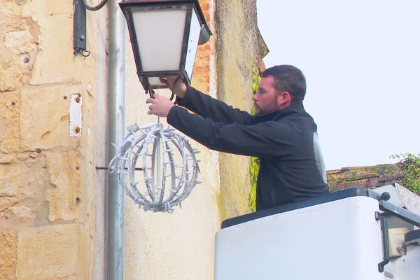
<svg viewBox="0 0 420 280"><path fill-rule="evenodd" d="M252 69L261 58L255 1L203 0L200 4L214 36L199 47L193 86L250 111ZM131 50L126 55L127 125L155 123L158 118L146 114L148 96L136 76ZM125 201L125 279L213 279L214 237L221 221L251 211L249 159L190 143L201 152L202 183L182 209L173 214L145 213L129 198Z"/></svg>

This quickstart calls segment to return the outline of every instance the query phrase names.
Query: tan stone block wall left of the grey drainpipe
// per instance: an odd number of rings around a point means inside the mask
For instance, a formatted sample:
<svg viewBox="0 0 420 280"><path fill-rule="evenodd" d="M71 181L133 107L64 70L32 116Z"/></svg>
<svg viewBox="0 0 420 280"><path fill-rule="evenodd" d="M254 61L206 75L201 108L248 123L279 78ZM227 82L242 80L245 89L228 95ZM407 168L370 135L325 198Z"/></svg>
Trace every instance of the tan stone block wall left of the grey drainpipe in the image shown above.
<svg viewBox="0 0 420 280"><path fill-rule="evenodd" d="M93 279L106 10L87 17L89 57L73 55L72 0L4 0L0 15L0 279Z"/></svg>

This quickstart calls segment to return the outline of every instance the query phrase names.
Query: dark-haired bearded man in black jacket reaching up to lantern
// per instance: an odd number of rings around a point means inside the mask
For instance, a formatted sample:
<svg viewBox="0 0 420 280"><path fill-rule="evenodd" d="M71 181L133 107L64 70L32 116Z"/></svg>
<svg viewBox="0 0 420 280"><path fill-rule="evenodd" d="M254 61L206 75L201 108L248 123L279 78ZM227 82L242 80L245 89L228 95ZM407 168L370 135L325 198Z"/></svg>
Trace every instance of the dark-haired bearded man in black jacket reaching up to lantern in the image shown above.
<svg viewBox="0 0 420 280"><path fill-rule="evenodd" d="M316 124L302 104L306 80L295 66L262 73L253 96L255 116L182 81L163 80L180 106L156 95L147 100L149 114L167 117L170 125L213 150L260 158L257 211L328 192Z"/></svg>

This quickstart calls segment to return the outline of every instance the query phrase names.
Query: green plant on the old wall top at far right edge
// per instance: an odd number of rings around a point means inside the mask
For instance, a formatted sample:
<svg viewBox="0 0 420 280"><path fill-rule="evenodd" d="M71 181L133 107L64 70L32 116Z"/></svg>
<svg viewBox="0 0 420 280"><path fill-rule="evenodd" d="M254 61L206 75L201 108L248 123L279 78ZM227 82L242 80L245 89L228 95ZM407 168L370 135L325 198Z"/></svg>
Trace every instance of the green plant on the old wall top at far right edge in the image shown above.
<svg viewBox="0 0 420 280"><path fill-rule="evenodd" d="M400 159L398 164L404 173L404 177L400 182L402 186L420 195L420 154L405 153L391 155L391 158Z"/></svg>

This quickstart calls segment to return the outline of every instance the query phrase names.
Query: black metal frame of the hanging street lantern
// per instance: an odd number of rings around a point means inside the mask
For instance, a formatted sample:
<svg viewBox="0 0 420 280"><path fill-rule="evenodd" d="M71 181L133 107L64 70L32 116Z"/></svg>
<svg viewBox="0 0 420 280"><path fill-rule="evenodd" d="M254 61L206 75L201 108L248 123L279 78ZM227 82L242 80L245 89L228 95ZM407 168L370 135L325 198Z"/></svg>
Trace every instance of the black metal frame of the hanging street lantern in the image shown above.
<svg viewBox="0 0 420 280"><path fill-rule="evenodd" d="M181 76L185 83L190 85L191 80L186 72L186 56L188 50L188 39L189 39L189 27L191 24L191 19L193 13L196 13L197 19L200 22L201 31L198 45L202 45L209 41L210 36L212 35L209 26L204 18L204 14L200 8L200 3L198 0L126 0L119 3L121 10L125 19L127 20L128 32L130 34L130 42L132 44L132 50L134 54L134 60L137 68L137 76L144 86L146 92L158 88L156 86L151 86L148 82L150 77L164 77L164 76ZM138 10L169 10L169 9L187 9L186 23L184 26L183 32L183 42L181 48L181 59L179 63L179 69L177 70L163 70L163 71L144 71L141 64L141 57L139 53L139 42L137 41L136 27L134 26L134 20L132 17L132 12ZM149 42L150 43L150 42ZM160 86L162 88L162 86Z"/></svg>

